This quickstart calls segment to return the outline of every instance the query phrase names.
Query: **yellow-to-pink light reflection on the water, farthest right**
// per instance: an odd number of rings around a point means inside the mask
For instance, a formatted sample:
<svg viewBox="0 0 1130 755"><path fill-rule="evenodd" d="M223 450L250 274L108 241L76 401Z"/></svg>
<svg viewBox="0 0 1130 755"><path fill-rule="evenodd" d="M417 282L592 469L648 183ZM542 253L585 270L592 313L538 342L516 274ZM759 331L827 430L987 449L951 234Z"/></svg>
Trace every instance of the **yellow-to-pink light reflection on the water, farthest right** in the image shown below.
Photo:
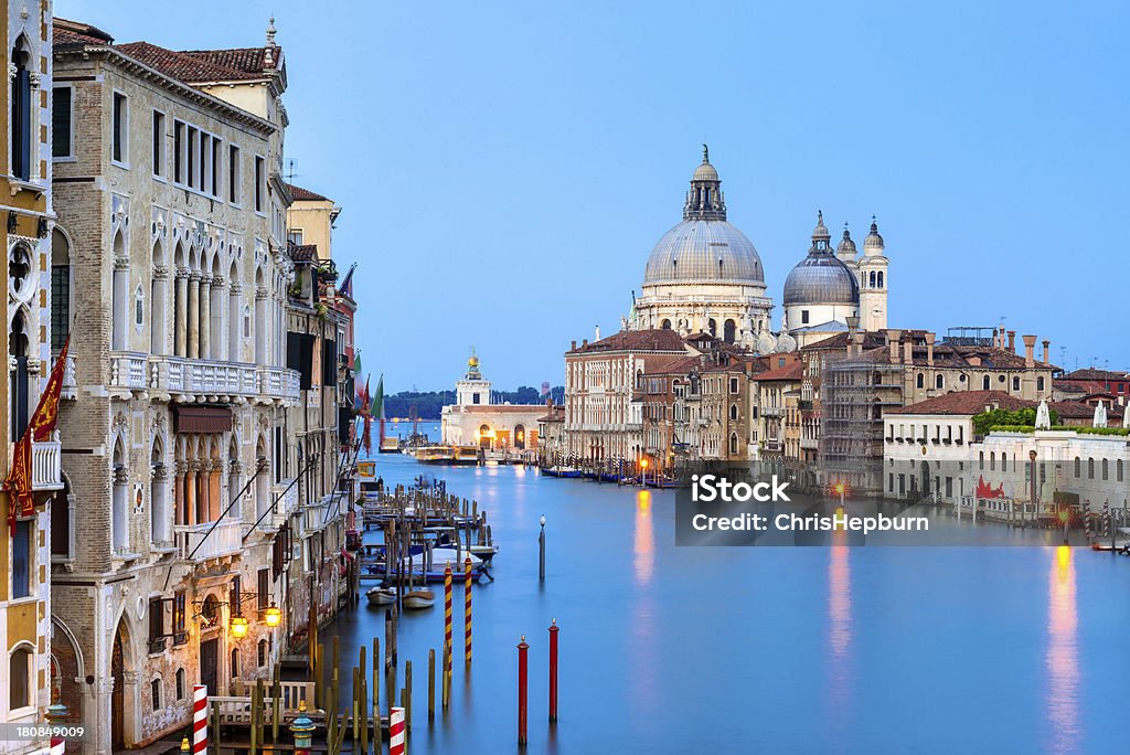
<svg viewBox="0 0 1130 755"><path fill-rule="evenodd" d="M1048 720L1055 753L1074 752L1079 736L1078 624L1071 548L1060 546L1048 590Z"/></svg>

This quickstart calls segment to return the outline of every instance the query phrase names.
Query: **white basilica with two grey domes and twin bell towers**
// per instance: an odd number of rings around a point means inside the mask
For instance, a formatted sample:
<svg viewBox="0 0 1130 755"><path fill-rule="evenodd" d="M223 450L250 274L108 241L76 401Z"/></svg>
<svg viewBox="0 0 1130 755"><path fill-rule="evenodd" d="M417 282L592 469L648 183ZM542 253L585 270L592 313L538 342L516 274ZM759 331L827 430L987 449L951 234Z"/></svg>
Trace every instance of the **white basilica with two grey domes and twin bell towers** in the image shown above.
<svg viewBox="0 0 1130 755"><path fill-rule="evenodd" d="M835 251L831 240L818 212L808 255L785 279L784 312L774 332L762 259L727 220L722 182L703 145L683 222L652 249L642 295L623 324L673 329L683 336L709 332L759 353L791 352L846 330L847 318L859 318L862 330L886 328L889 261L873 218L862 257L846 226Z"/></svg>

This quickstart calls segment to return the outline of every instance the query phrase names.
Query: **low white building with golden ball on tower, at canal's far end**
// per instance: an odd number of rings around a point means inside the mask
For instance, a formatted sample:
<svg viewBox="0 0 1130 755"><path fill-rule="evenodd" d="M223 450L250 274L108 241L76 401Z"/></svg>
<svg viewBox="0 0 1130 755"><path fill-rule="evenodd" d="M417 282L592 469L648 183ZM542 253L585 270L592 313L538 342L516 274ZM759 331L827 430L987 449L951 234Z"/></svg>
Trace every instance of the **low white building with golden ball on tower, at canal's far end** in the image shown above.
<svg viewBox="0 0 1130 755"><path fill-rule="evenodd" d="M479 357L467 361L467 373L455 383L455 402L440 414L441 442L477 445L486 452L525 455L538 449L544 403L495 403L490 381L483 376Z"/></svg>

